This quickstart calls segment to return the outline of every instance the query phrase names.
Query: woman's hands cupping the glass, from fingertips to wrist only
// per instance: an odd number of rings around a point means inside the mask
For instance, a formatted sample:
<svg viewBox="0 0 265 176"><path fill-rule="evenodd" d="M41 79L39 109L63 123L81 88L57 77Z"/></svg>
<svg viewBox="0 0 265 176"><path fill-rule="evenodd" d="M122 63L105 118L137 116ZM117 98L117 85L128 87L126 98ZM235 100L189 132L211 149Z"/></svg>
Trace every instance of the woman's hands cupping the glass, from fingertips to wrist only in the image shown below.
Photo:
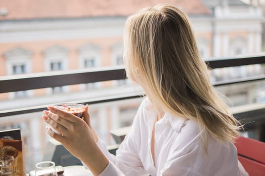
<svg viewBox="0 0 265 176"><path fill-rule="evenodd" d="M90 117L85 108L84 120L75 115L54 107L44 111L43 120L59 134L48 128L48 135L61 142L67 150L80 158L85 151L96 145L97 136L94 135L90 125Z"/></svg>

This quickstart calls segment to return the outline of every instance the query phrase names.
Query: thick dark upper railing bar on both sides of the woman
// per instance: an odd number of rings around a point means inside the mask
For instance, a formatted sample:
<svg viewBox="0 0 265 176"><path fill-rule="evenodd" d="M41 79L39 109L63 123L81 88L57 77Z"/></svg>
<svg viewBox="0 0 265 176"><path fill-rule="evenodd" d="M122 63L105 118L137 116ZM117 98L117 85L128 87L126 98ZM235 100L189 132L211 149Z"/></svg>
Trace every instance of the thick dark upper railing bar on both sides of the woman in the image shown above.
<svg viewBox="0 0 265 176"><path fill-rule="evenodd" d="M265 56L229 58L205 61L210 68L242 66L265 63ZM124 66L96 68L93 70L67 70L44 73L31 73L0 77L0 94L16 91L42 89L47 87L73 85L80 83L125 79Z"/></svg>

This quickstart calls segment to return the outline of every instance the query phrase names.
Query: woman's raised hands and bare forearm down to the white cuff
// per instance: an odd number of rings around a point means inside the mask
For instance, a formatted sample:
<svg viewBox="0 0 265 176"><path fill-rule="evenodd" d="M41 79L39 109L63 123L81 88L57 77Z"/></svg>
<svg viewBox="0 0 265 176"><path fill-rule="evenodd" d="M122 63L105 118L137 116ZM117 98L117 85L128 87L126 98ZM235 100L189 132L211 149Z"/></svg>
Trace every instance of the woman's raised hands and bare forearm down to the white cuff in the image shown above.
<svg viewBox="0 0 265 176"><path fill-rule="evenodd" d="M98 138L90 124L88 106L82 119L54 107L48 107L48 110L43 111L42 118L59 133L48 128L48 135L61 142L70 153L82 160L93 175L99 175L109 164L109 160L96 144Z"/></svg>

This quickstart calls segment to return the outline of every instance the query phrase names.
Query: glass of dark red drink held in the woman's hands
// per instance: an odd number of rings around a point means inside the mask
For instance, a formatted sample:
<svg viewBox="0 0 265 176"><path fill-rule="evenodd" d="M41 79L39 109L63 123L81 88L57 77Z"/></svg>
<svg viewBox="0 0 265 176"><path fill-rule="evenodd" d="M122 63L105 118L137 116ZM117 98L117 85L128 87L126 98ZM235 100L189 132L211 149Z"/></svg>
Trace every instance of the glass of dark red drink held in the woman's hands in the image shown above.
<svg viewBox="0 0 265 176"><path fill-rule="evenodd" d="M83 117L85 111L85 106L78 103L59 103L55 104L53 107L74 114L80 118Z"/></svg>

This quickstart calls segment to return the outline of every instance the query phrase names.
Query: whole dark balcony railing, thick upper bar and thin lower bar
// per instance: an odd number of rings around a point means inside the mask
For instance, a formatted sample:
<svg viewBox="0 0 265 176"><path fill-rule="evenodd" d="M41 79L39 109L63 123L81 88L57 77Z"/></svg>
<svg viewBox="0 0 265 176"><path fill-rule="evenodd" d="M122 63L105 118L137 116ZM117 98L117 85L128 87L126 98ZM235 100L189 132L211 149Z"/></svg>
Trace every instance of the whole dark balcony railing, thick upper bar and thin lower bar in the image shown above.
<svg viewBox="0 0 265 176"><path fill-rule="evenodd" d="M210 69L225 68L234 66L243 66L251 64L265 64L265 56L253 56L253 57L242 57L242 58L219 58L205 61ZM0 94L9 93L16 91L26 91L41 89L47 87L73 85L81 83L90 83L107 80L118 80L125 79L126 72L124 67L117 66L112 68L101 68L88 71L87 69L82 70L68 70L68 71L57 71L57 72L44 72L44 73L31 73L22 75L10 75L0 77ZM250 82L257 80L264 80L265 75L258 75L246 78L237 78L213 82L215 86L236 84L241 82ZM77 100L77 103L85 104L96 104L103 102L112 102L118 100L125 100L139 97L138 94L130 95L117 95L110 97L101 97L90 100ZM0 111L0 117L12 116L17 114L32 113L42 111L46 108L46 105L26 107L20 109L11 109ZM263 110L262 110L263 111ZM235 114L237 116L237 114ZM241 117L242 114L239 114Z"/></svg>

